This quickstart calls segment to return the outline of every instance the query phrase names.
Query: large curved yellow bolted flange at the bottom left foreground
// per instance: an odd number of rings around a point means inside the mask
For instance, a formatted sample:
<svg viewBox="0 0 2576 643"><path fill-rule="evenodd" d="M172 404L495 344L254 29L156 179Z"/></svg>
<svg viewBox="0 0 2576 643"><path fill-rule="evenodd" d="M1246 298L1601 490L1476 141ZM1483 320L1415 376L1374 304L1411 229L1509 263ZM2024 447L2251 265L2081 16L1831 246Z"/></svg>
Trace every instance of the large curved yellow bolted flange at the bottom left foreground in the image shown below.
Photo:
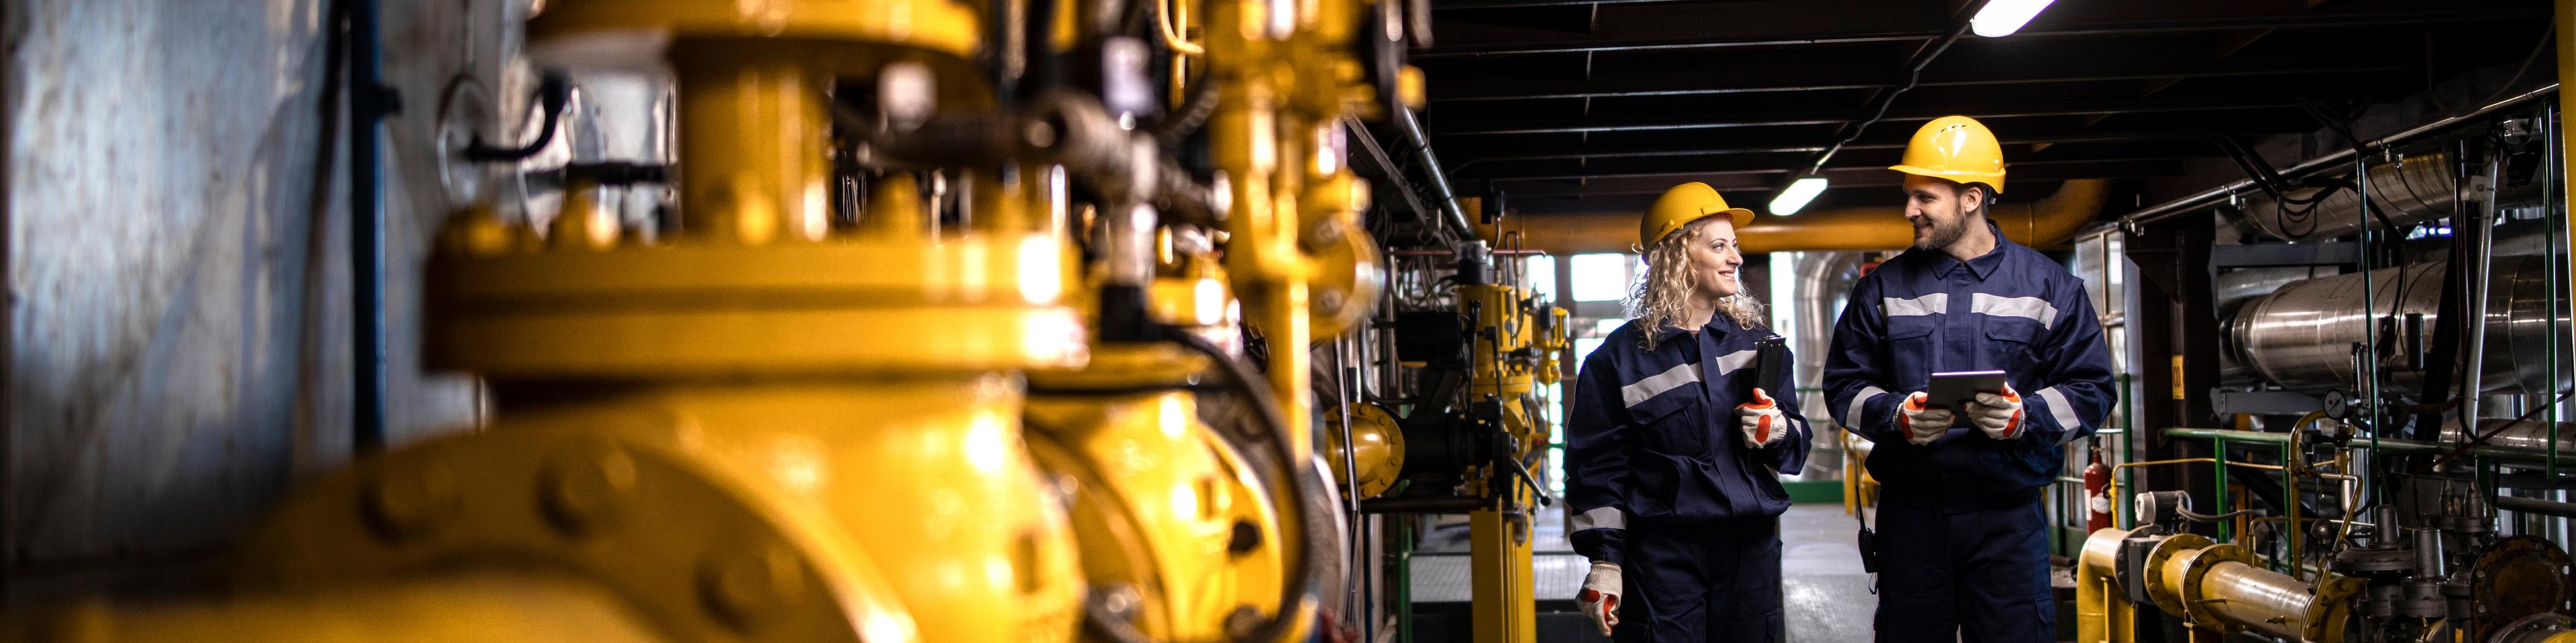
<svg viewBox="0 0 2576 643"><path fill-rule="evenodd" d="M379 532L389 481L435 476L435 530ZM394 486L402 491L402 486ZM412 494L422 496L422 494ZM688 640L909 640L894 584L690 455L641 440L541 430L430 440L307 486L245 540L245 589L332 592L456 566L572 574L611 586ZM613 520L611 520L613 517ZM544 561L544 563L528 563Z"/></svg>

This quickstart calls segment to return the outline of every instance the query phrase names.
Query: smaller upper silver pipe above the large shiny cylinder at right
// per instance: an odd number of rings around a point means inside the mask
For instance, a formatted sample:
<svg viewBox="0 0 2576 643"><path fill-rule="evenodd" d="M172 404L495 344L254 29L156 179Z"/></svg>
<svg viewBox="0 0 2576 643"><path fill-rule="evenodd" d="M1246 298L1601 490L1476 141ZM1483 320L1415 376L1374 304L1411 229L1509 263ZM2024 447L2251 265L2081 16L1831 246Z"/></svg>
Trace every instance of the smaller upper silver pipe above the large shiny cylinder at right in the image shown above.
<svg viewBox="0 0 2576 643"><path fill-rule="evenodd" d="M2370 167L2370 206L2398 229L2442 219L2452 211L2452 183L2458 180L2450 170L2450 152L2398 157ZM2287 195L2311 198L2321 188L2290 190ZM2308 206L2251 193L2236 206L2241 213L2236 224L2290 242L2334 239L2362 229L2360 206L2362 201L2352 190L2334 190L2334 195ZM2380 224L2378 216L2370 224Z"/></svg>

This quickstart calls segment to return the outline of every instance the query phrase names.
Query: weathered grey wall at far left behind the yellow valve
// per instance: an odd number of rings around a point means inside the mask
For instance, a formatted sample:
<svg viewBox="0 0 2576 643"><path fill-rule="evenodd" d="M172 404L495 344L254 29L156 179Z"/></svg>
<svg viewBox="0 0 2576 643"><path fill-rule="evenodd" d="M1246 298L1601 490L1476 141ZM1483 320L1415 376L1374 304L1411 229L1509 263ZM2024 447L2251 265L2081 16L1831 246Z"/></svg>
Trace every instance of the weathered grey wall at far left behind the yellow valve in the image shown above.
<svg viewBox="0 0 2576 643"><path fill-rule="evenodd" d="M518 95L526 0L384 3L394 442L471 427L422 373L451 80ZM5 3L0 576L41 599L206 561L350 455L345 131L327 0ZM518 103L518 100L507 100Z"/></svg>

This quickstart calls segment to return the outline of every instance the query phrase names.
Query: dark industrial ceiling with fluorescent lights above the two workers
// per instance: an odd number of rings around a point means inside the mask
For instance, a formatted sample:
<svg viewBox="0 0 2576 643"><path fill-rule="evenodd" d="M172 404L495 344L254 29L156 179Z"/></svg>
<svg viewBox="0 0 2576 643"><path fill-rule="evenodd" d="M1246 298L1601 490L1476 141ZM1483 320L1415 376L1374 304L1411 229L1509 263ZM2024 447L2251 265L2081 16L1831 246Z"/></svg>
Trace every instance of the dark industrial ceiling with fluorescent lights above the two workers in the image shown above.
<svg viewBox="0 0 2576 643"><path fill-rule="evenodd" d="M2468 69L2527 67L2550 15L2545 0L2058 0L1984 39L1960 33L1971 8L1432 0L1435 41L1412 62L1440 170L1512 216L1636 213L1685 180L1759 208L1819 159L1816 206L1896 203L1883 167L1945 113L1994 126L2004 198L2035 201L2081 177L2133 195L2226 165L2223 136L2331 131ZM2117 201L2107 213L2133 198Z"/></svg>

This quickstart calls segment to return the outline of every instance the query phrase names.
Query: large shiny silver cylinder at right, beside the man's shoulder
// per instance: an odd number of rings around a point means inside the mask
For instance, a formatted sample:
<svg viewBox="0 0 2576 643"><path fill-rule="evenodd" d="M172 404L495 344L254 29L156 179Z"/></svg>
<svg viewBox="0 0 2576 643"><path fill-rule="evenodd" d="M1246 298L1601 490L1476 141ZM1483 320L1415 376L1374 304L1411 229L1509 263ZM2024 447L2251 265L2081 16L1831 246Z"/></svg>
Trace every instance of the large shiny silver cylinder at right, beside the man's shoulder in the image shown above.
<svg viewBox="0 0 2576 643"><path fill-rule="evenodd" d="M2486 301L2486 394L2548 391L2548 278L2550 260L2496 257L2494 288ZM2372 291L2362 296L2362 275L2334 275L2280 285L2269 296L2244 303L2226 322L2228 368L2249 368L2264 381L2298 391L2349 391L2352 345L2367 337L2367 324L2393 316L2398 355L2380 363L2391 373L2391 391L2419 391L2421 368L2403 355L2403 347L2429 345L2439 319L2445 265L2383 267L2372 273ZM2367 309L2365 309L2367 301ZM2421 316L2414 342L2406 342L2409 316ZM2566 370L2561 358L2561 373Z"/></svg>

